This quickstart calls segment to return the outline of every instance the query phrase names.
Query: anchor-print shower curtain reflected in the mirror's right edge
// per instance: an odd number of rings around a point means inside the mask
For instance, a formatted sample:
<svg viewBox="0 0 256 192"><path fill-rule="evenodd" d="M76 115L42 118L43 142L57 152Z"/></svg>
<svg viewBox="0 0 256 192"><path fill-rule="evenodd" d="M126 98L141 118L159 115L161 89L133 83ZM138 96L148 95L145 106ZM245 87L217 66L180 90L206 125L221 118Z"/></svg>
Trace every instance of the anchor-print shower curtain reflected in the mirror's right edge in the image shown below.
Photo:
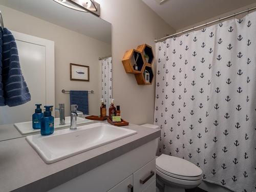
<svg viewBox="0 0 256 192"><path fill-rule="evenodd" d="M101 60L101 98L109 109L112 99L112 57ZM106 110L107 115L109 110Z"/></svg>

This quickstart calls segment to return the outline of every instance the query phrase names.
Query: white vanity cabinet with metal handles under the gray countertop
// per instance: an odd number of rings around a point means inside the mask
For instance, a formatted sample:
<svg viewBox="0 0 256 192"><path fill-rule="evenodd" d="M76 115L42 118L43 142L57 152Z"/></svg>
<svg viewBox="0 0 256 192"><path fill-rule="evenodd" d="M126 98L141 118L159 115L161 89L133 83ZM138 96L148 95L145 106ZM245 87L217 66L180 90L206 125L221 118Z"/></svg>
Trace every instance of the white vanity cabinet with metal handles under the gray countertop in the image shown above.
<svg viewBox="0 0 256 192"><path fill-rule="evenodd" d="M152 140L50 191L155 192L156 156L154 149L155 140Z"/></svg>

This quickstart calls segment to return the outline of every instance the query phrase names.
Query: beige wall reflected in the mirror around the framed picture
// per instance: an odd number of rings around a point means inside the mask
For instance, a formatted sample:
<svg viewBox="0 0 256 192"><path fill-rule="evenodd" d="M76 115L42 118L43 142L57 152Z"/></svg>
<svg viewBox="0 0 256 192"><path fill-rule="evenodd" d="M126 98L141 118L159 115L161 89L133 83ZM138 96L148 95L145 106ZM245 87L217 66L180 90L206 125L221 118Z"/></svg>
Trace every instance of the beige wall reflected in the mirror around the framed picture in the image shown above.
<svg viewBox="0 0 256 192"><path fill-rule="evenodd" d="M55 106L65 103L68 116L69 94L61 90L94 90L94 94L89 94L89 112L99 114L101 69L98 58L111 55L111 45L2 5L0 9L8 29L55 42ZM90 66L90 82L71 81L70 62Z"/></svg>

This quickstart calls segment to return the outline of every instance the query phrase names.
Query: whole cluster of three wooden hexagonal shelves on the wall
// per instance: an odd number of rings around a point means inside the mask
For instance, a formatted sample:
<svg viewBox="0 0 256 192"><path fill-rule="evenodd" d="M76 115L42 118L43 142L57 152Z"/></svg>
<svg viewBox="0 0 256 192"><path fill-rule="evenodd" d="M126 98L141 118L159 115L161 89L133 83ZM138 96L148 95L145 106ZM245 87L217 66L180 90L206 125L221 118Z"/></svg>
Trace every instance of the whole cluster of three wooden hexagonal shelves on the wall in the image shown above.
<svg viewBox="0 0 256 192"><path fill-rule="evenodd" d="M155 56L151 46L143 44L137 50L130 49L125 52L122 63L126 73L135 74L138 84L152 84L154 73L152 64Z"/></svg>

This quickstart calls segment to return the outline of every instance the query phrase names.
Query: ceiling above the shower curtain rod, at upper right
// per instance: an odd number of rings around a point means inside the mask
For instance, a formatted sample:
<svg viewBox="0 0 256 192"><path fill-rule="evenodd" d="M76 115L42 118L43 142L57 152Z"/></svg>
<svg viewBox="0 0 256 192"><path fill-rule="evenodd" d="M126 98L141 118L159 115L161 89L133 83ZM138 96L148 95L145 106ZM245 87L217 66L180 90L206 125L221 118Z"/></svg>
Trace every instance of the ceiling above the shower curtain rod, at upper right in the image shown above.
<svg viewBox="0 0 256 192"><path fill-rule="evenodd" d="M142 0L175 30L256 3L256 0Z"/></svg>

